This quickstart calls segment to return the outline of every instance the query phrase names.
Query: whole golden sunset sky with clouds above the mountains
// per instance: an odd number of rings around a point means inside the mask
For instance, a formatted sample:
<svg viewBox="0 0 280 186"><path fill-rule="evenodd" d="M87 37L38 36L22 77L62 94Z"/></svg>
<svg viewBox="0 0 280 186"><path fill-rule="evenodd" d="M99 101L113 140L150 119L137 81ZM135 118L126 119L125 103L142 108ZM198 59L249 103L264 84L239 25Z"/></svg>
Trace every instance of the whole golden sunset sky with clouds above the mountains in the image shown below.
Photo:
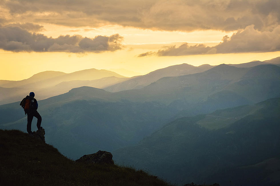
<svg viewBox="0 0 280 186"><path fill-rule="evenodd" d="M280 56L279 0L0 0L0 79Z"/></svg>

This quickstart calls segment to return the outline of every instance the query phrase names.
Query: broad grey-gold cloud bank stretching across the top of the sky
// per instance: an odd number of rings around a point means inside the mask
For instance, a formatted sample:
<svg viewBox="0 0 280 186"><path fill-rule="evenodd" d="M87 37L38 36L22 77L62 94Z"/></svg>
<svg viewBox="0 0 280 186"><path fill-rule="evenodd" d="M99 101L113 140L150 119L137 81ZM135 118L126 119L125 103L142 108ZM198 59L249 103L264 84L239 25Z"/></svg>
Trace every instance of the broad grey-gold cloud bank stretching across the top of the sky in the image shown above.
<svg viewBox="0 0 280 186"><path fill-rule="evenodd" d="M279 0L2 0L0 7L14 23L74 27L119 24L154 30L233 31L254 24L257 30L271 31L280 23Z"/></svg>

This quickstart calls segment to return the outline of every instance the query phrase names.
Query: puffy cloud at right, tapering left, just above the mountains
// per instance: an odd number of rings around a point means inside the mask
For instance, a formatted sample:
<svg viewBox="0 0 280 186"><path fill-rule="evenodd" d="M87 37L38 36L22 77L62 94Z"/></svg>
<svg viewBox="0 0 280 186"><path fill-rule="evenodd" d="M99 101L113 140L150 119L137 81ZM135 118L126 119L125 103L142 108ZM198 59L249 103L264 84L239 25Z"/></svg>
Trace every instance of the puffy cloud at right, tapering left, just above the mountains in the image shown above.
<svg viewBox="0 0 280 186"><path fill-rule="evenodd" d="M184 43L177 47L165 47L157 52L146 52L138 57L157 56L185 56L195 54L226 54L239 52L274 52L280 51L280 26L273 31L258 31L254 25L247 26L244 30L238 30L230 38L224 36L218 45L209 47L204 44L189 46Z"/></svg>

